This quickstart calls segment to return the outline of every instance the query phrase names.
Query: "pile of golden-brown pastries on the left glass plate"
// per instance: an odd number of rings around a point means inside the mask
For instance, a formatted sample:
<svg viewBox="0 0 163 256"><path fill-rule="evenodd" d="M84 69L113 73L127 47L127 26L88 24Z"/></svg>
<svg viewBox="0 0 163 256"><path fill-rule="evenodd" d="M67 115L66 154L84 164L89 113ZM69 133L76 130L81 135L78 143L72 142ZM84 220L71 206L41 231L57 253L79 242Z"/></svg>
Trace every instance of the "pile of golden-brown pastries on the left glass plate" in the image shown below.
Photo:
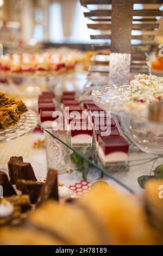
<svg viewBox="0 0 163 256"><path fill-rule="evenodd" d="M25 112L27 107L23 101L16 101L0 92L0 130L14 126Z"/></svg>

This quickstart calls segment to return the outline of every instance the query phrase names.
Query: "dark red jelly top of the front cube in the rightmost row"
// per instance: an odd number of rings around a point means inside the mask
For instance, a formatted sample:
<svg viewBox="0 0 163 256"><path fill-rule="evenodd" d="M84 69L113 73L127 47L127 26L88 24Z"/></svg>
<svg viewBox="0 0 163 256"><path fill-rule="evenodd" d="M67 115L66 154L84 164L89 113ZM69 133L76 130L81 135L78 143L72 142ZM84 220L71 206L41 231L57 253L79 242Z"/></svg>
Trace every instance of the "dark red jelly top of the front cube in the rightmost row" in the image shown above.
<svg viewBox="0 0 163 256"><path fill-rule="evenodd" d="M128 154L129 143L122 136L108 136L98 138L99 147L104 151L105 155L114 152L123 152Z"/></svg>

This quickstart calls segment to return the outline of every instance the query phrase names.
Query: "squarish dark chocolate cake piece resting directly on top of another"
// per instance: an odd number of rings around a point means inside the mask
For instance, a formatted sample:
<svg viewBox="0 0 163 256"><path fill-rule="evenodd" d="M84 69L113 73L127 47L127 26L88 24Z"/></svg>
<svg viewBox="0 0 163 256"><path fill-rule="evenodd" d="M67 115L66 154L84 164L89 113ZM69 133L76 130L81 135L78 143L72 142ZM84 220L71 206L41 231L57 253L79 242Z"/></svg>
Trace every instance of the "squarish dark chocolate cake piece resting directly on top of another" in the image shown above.
<svg viewBox="0 0 163 256"><path fill-rule="evenodd" d="M18 179L37 181L30 163L18 161L17 163L13 164L13 171L15 184L17 183Z"/></svg>

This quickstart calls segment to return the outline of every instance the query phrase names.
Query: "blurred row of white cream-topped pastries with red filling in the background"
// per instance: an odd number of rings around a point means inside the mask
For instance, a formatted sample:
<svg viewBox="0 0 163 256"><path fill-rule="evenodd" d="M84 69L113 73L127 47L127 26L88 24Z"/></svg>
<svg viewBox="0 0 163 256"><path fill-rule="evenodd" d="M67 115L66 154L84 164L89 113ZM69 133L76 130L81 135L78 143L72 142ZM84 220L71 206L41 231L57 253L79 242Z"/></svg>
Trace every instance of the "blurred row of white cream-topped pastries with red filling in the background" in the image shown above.
<svg viewBox="0 0 163 256"><path fill-rule="evenodd" d="M74 70L81 60L79 53L5 54L0 58L0 71L4 74L59 74Z"/></svg>

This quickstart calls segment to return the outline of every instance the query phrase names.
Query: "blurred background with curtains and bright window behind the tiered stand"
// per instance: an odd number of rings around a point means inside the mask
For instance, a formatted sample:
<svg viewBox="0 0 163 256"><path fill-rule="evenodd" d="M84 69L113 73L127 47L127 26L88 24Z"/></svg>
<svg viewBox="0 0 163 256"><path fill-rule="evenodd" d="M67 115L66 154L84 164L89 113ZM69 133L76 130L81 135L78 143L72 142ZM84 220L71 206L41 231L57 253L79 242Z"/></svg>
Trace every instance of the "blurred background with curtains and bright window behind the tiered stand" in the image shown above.
<svg viewBox="0 0 163 256"><path fill-rule="evenodd" d="M162 10L161 1L159 5ZM157 9L158 4L134 4L135 10L145 7ZM110 9L111 5L101 5L100 9L103 8ZM96 10L96 5L90 5L90 9ZM0 0L0 43L4 53L9 48L11 53L30 46L30 51L35 51L35 47L58 47L60 44L90 50L91 42L96 40L90 40L91 33L86 24L93 21L86 19L83 11L87 9L80 5L79 0ZM158 17L158 22L156 43L163 41L163 20ZM98 33L93 31L93 34Z"/></svg>

